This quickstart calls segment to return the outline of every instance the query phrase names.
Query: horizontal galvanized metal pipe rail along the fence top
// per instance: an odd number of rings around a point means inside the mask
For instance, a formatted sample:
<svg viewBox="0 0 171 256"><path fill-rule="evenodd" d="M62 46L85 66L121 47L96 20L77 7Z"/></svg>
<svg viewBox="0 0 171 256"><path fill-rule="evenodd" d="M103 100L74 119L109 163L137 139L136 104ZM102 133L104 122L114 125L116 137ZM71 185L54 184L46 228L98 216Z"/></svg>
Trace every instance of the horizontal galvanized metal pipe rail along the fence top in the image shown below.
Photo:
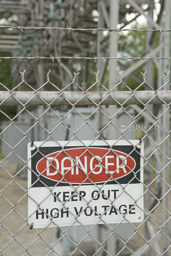
<svg viewBox="0 0 171 256"><path fill-rule="evenodd" d="M0 91L0 105L131 105L170 104L171 91L25 92Z"/></svg>

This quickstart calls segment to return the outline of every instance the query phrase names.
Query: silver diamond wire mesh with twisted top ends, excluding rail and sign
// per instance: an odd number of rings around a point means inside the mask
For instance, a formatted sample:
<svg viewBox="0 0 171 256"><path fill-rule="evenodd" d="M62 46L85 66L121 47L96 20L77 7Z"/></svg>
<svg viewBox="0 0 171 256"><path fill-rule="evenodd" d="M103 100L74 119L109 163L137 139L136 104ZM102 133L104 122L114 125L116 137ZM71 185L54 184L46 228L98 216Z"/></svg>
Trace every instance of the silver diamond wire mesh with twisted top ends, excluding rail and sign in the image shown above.
<svg viewBox="0 0 171 256"><path fill-rule="evenodd" d="M0 105L10 105L10 100L14 100L17 107L17 114L12 118L8 116L6 108L1 108L0 112L6 117L6 120L1 122L1 192L0 192L0 234L1 245L0 255L170 255L170 103L166 99L160 98L160 91L165 89L165 85L171 85L169 82L169 73L166 75L166 83L157 91L147 83L145 73L143 73L143 82L135 90L131 90L131 86L123 83L122 73L119 74L119 82L109 91L103 84L99 83L98 75L95 74L95 82L84 91L76 82L78 74L74 74L71 84L66 85L62 90L57 85L50 81L50 71L47 73L47 82L41 85L38 89L34 89L32 85L25 81L25 71L21 73L21 82L12 90L9 90L4 84L1 84L1 90L9 92L9 95L4 100L1 100ZM56 97L47 103L49 93L46 98L41 98L39 92L48 92L49 87L54 91L60 92ZM34 95L25 102L17 98L17 92L28 90L34 92ZM26 89L27 88L27 89ZM89 97L88 92L95 90L107 92L106 97L93 101ZM146 103L144 100L139 100L136 96L136 91L142 90L142 98L145 90L155 92ZM116 90L130 91L130 97L124 102L120 102L113 97L112 91ZM52 91L52 90L51 90ZM79 91L84 94L79 99L72 99L70 102L65 98L65 92ZM169 93L170 91L168 91ZM0 92L1 96L4 92ZM29 93L29 92L28 92ZM126 92L125 92L126 93ZM30 102L38 97L42 104L35 107ZM60 104L55 106L53 103L60 97ZM138 104L127 105L127 101L134 97ZM115 105L111 106L107 103L109 98L115 101ZM78 107L81 100L88 99L90 105ZM151 101L160 100L160 105L150 105ZM7 103L8 102L8 103ZM67 103L66 103L67 102ZM30 106L33 105L33 106ZM43 106L41 106L43 105ZM65 105L65 106L64 106ZM67 106L66 106L67 105ZM111 111L112 109L112 111ZM112 113L112 115L111 115ZM113 131L113 138L109 137L110 131ZM108 140L116 139L114 144L110 144ZM41 209L40 203L37 203L28 193L30 187L27 188L26 169L34 172L28 166L26 154L26 145L30 142L36 146L36 153L39 152L42 157L47 158L39 148L47 141L55 141L62 147L67 146L71 141L79 141L85 146L85 151L88 151L94 156L88 148L93 142L102 140L109 146L109 151L120 140L126 140L131 145L131 140L139 139L144 142L144 192L140 197L144 196L144 220L140 223L131 223L127 214L137 205L138 199L133 198L126 187L128 184L120 184L122 193L127 193L134 201L134 205L126 214L123 214L119 209L116 209L123 215L123 220L118 224L108 224L103 220L103 224L98 224L102 220L99 216L99 221L94 225L84 225L78 220L78 215L74 215L75 220L70 226L60 227L54 222L51 215ZM34 141L42 141L39 147ZM62 145L61 140L66 144ZM91 140L89 145L85 145L84 140ZM138 144L138 143L137 143ZM133 151L136 151L133 145ZM59 152L59 154L61 153ZM35 153L35 154L36 154ZM66 156L70 156L65 152ZM32 158L33 156L31 156ZM79 156L80 158L81 156ZM96 157L96 156L94 156ZM96 158L97 159L97 158ZM100 164L100 159L97 159ZM125 159L122 159L123 164ZM51 160L49 166L52 165ZM74 159L73 159L74 161ZM77 162L74 161L74 166ZM53 166L55 168L55 166ZM71 166L72 168L73 166ZM103 166L104 167L104 166ZM127 166L129 168L129 166ZM47 167L48 168L48 167ZM71 168L67 171L69 172ZM79 167L80 168L80 167ZM104 167L105 168L105 167ZM83 172L84 170L81 169ZM139 171L139 170L138 170ZM67 173L66 172L66 173ZM65 174L66 174L65 173ZM65 179L65 174L62 179ZM134 173L134 177L137 173ZM37 174L36 174L37 175ZM37 180L40 180L40 175L37 175ZM89 179L87 175L86 179ZM89 179L90 180L90 179ZM69 187L74 189L74 195L79 195L77 187L72 186L70 182L65 180ZM93 182L92 180L90 180ZM42 181L41 181L42 183ZM56 183L54 187L58 185ZM93 183L98 194L108 198L108 195L101 189L102 186ZM43 198L42 202L48 196L56 196L52 187L47 188L48 194ZM122 194L121 193L121 194ZM121 196L119 194L114 200L108 198L109 206L104 210L110 211L110 208L115 204L115 200ZM80 196L80 195L79 195ZM97 194L95 195L97 196ZM95 197L94 196L94 197ZM49 225L41 229L34 228L28 224L27 217L27 199L32 200L37 205L36 210L44 212L48 216L54 228L48 228ZM59 199L59 198L58 198ZM66 201L61 201L62 207L58 209L53 217L62 210L67 210L65 204L71 199L71 196ZM85 200L84 197L82 197ZM86 207L91 201L86 201ZM137 205L138 206L138 205ZM82 212L85 210L82 209ZM142 209L141 209L142 210ZM94 210L93 210L94 211ZM79 215L82 213L80 212ZM94 211L95 212L95 211ZM33 212L31 215L33 215ZM72 215L73 213L70 212ZM73 224L79 222L79 226ZM126 222L126 223L123 223ZM29 229L29 227L31 229Z"/></svg>

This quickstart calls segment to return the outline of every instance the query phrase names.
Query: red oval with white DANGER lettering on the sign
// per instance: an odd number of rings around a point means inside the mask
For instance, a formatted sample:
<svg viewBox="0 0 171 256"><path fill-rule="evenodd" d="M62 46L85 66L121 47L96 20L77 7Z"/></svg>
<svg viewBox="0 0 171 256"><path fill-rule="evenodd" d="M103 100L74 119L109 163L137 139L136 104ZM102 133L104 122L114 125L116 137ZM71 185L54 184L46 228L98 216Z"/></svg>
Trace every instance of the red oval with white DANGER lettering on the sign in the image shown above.
<svg viewBox="0 0 171 256"><path fill-rule="evenodd" d="M112 152L108 148L97 147L85 150L85 148L69 148L62 152L56 151L47 155L48 159L41 158L36 169L50 180L90 184L121 178L136 166L131 156L117 150ZM54 157L55 159L52 160Z"/></svg>

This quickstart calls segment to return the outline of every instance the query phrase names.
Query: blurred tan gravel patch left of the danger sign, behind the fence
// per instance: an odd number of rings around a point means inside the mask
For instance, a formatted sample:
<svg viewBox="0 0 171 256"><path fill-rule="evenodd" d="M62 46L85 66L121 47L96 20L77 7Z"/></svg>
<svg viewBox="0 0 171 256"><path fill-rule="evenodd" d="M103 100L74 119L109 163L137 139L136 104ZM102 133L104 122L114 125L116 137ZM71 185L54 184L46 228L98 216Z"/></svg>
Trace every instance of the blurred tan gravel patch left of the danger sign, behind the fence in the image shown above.
<svg viewBox="0 0 171 256"><path fill-rule="evenodd" d="M2 164L5 170L11 173L11 175L15 175L16 173L16 165L8 164L5 162ZM0 170L0 190L3 189L7 184L11 181L11 177L5 173L2 169ZM22 186L23 188L27 188L27 180L19 179L19 176L15 178L15 181ZM5 215L11 212L2 222L2 225L6 227L10 232L5 230L2 226L0 227L0 248L3 248L6 244L6 248L3 250L3 255L5 256L13 256L13 255L24 255L26 253L25 247L28 247L38 236L36 232L32 229L29 229L28 225L25 225L25 220L19 216L12 210L11 204L16 204L19 199L24 196L24 191L14 182L12 182L5 190L2 192L2 196L6 198L4 200L3 197L0 197L0 219L2 220ZM9 204L7 200L11 203ZM23 217L27 218L27 196L25 196L19 204L15 206L15 210L19 212ZM15 235L15 240L12 238L12 234L15 234L23 225L25 225L17 235ZM38 229L40 230L40 229ZM12 234L11 234L12 233ZM50 240L53 241L56 237L56 228L47 228L42 234L42 238L45 238L47 242ZM20 245L22 244L22 245ZM42 252L43 249L43 252ZM61 251L61 245L59 245L59 251ZM46 255L50 251L49 245L43 242L40 238L28 249L28 252L32 255ZM60 252L61 253L61 252ZM28 254L27 254L28 255ZM53 253L49 254L50 256Z"/></svg>

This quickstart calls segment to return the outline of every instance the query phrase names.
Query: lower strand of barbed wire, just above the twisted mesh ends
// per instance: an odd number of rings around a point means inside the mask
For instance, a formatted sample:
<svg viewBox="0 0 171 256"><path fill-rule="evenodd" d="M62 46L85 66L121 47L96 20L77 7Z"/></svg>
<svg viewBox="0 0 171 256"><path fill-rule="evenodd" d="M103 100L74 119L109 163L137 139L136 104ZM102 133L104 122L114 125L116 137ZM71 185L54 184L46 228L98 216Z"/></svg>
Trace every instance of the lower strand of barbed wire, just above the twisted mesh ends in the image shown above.
<svg viewBox="0 0 171 256"><path fill-rule="evenodd" d="M57 59L78 59L78 60L170 60L171 57L79 57L79 56L50 56L50 57L43 57L43 56L33 56L33 57L23 57L23 56L14 56L14 57L9 57L9 56L3 56L0 57L0 61L5 59L26 59L26 60L32 60L32 59L46 59L46 60L54 60Z"/></svg>

